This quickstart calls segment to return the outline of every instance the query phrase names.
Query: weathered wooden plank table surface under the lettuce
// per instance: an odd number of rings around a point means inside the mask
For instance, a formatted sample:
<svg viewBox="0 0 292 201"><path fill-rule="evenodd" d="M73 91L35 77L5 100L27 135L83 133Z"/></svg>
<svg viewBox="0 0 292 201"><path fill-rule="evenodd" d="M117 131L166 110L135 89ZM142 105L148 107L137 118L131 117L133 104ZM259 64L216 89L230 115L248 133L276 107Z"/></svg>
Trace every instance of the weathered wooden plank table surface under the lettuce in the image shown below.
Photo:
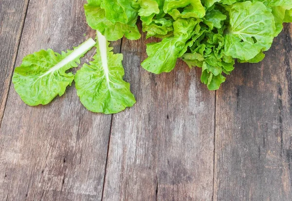
<svg viewBox="0 0 292 201"><path fill-rule="evenodd" d="M143 37L112 43L134 107L91 113L73 86L25 105L14 67L94 37L85 2L0 0L0 201L292 201L292 25L216 92L181 61L168 74L142 69Z"/></svg>

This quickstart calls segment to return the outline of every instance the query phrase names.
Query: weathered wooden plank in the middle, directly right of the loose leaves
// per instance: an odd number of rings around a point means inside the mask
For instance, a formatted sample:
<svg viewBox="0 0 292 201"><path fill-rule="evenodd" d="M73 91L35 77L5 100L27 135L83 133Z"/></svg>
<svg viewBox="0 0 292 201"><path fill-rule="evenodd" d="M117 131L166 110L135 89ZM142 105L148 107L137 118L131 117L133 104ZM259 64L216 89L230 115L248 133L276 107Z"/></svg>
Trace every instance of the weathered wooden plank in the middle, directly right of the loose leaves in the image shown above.
<svg viewBox="0 0 292 201"><path fill-rule="evenodd" d="M145 43L123 40L137 103L113 116L103 201L210 201L215 93L183 62L169 74L146 72Z"/></svg>

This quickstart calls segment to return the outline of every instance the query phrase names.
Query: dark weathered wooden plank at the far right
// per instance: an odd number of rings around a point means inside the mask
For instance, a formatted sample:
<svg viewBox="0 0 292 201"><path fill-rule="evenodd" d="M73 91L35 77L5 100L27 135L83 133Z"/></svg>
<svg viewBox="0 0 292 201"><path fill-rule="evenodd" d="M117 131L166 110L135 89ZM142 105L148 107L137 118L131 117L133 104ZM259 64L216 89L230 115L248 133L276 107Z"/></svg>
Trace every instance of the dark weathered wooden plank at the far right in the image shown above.
<svg viewBox="0 0 292 201"><path fill-rule="evenodd" d="M292 25L218 91L214 201L291 201Z"/></svg>

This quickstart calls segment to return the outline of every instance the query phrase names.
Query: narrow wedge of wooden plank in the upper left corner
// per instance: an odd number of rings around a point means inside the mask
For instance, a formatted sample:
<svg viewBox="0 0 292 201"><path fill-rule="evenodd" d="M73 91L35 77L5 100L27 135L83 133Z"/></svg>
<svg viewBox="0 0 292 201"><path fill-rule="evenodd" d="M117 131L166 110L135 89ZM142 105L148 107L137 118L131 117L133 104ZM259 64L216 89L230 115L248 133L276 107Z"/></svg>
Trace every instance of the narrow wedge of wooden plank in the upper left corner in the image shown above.
<svg viewBox="0 0 292 201"><path fill-rule="evenodd" d="M0 0L0 126L29 0Z"/></svg>

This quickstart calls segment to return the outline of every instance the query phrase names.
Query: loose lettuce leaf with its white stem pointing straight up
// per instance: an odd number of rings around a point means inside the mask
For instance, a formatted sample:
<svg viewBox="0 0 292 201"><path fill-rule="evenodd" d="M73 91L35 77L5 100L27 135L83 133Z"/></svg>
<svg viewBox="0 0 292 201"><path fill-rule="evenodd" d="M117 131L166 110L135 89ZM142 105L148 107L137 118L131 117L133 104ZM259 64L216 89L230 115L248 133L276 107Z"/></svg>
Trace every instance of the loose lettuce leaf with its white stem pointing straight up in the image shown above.
<svg viewBox="0 0 292 201"><path fill-rule="evenodd" d="M93 61L75 75L77 95L90 111L115 114L134 105L130 84L123 80L123 55L113 54L106 38L97 33L98 48Z"/></svg>

